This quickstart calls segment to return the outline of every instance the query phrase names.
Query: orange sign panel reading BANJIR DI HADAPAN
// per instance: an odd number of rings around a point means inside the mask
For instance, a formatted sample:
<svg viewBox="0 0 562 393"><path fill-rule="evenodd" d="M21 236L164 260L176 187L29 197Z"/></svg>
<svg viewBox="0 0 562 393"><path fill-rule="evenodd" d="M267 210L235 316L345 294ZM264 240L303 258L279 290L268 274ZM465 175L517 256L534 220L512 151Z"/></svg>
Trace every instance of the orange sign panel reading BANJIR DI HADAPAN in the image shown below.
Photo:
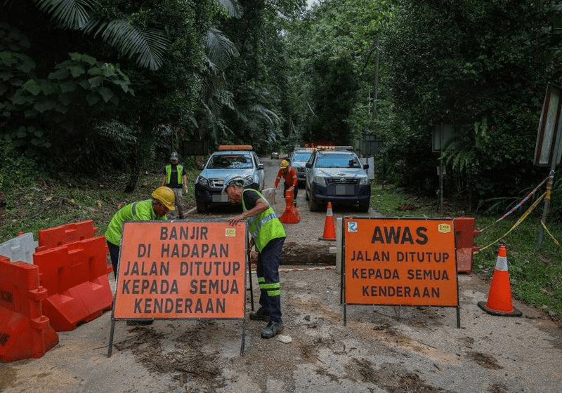
<svg viewBox="0 0 562 393"><path fill-rule="evenodd" d="M114 318L244 318L246 244L245 222L124 222Z"/></svg>

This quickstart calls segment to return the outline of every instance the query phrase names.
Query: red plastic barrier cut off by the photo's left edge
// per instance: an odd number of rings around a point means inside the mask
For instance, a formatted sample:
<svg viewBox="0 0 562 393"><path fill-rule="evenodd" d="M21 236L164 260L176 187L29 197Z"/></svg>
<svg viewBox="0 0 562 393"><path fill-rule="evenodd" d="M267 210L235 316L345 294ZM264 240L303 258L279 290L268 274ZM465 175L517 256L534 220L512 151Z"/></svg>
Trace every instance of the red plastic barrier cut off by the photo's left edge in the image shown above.
<svg viewBox="0 0 562 393"><path fill-rule="evenodd" d="M41 312L47 297L39 268L0 257L0 361L42 357L58 344L58 334Z"/></svg>

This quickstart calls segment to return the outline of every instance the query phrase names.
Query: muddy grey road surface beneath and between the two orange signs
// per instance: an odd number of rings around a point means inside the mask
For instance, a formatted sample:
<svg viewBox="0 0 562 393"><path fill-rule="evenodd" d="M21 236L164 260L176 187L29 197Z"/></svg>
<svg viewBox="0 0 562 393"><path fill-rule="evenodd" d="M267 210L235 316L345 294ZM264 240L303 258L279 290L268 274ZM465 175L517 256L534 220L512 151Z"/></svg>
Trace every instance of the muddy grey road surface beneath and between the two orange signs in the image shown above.
<svg viewBox="0 0 562 393"><path fill-rule="evenodd" d="M279 160L263 161L276 171ZM275 173L266 178L273 185ZM309 212L300 191L301 222L285 225L280 336L263 340L265 323L249 319L136 327L115 321L107 357L106 312L60 332L59 344L40 359L0 364L0 392L562 392L561 329L516 301L523 317L486 314L477 302L486 300L490 283L474 274L459 275L460 328L450 307L348 305L344 324L341 278L329 253L334 242L318 240L326 213ZM280 194L278 214L285 208ZM236 213L218 208L188 218ZM344 215L360 213L334 207L335 218Z"/></svg>

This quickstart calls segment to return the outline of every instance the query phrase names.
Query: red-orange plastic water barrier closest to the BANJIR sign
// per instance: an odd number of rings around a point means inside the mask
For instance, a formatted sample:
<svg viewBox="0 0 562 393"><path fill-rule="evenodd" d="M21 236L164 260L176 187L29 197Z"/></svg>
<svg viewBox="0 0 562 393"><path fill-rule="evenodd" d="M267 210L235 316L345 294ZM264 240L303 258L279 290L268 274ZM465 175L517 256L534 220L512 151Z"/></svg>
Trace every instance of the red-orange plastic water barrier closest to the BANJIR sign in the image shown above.
<svg viewBox="0 0 562 393"><path fill-rule="evenodd" d="M72 331L112 307L105 236L74 241L34 253L41 285L48 291L45 315L55 331Z"/></svg>

